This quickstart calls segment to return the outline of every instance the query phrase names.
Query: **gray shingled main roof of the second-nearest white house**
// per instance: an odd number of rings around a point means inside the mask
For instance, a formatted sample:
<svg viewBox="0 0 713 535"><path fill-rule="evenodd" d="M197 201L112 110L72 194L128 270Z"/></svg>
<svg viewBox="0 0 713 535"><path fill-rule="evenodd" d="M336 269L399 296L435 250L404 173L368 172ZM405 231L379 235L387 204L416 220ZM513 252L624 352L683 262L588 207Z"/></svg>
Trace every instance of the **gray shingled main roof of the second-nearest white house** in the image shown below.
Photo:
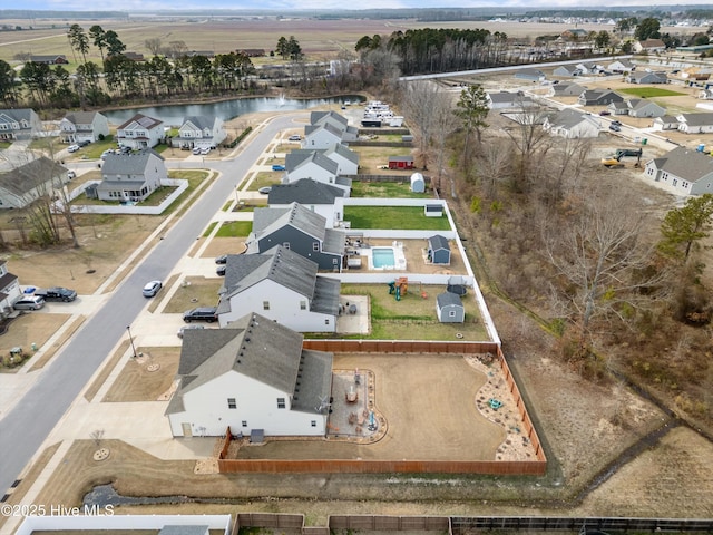
<svg viewBox="0 0 713 535"><path fill-rule="evenodd" d="M221 299L218 313L229 309L227 301L231 298L265 280L274 281L311 301L318 268L316 262L282 245L260 254L232 254L225 264L226 291Z"/></svg>

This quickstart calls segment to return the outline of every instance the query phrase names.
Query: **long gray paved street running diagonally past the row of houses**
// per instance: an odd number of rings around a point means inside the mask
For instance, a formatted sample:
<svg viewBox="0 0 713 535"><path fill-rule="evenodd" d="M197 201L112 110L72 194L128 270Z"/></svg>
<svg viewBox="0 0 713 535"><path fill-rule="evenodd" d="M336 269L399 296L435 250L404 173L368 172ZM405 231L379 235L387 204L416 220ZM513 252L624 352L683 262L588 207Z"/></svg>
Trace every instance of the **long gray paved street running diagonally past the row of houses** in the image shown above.
<svg viewBox="0 0 713 535"><path fill-rule="evenodd" d="M195 243L235 186L274 136L294 127L297 115L280 116L265 125L234 159L211 163L221 172L202 197L156 242L146 259L116 289L107 303L89 319L27 391L14 408L0 419L0 496L10 488L46 436L57 425L74 399L116 343L126 335L147 301L140 289L146 281L165 280ZM203 164L196 162L195 167ZM193 167L184 163L182 167Z"/></svg>

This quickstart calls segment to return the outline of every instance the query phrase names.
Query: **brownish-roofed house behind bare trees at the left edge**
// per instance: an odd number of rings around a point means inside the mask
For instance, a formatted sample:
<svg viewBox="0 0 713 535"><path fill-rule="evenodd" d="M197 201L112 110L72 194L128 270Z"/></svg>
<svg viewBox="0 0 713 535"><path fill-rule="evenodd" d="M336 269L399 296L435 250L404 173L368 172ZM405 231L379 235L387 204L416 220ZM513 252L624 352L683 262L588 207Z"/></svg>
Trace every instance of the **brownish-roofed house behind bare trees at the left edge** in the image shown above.
<svg viewBox="0 0 713 535"><path fill-rule="evenodd" d="M39 197L58 195L67 168L46 156L0 173L0 208L23 208Z"/></svg>

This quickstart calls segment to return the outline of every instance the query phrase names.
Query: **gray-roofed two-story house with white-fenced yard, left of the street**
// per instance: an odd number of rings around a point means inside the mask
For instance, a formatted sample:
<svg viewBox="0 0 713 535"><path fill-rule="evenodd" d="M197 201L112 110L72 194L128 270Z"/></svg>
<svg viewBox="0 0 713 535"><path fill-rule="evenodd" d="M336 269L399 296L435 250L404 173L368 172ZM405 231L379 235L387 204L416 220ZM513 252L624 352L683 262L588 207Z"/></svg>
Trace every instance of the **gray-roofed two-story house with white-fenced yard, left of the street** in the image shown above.
<svg viewBox="0 0 713 535"><path fill-rule="evenodd" d="M168 178L164 158L155 150L109 154L101 166L96 197L101 201L144 201ZM87 195L92 195L87 192Z"/></svg>

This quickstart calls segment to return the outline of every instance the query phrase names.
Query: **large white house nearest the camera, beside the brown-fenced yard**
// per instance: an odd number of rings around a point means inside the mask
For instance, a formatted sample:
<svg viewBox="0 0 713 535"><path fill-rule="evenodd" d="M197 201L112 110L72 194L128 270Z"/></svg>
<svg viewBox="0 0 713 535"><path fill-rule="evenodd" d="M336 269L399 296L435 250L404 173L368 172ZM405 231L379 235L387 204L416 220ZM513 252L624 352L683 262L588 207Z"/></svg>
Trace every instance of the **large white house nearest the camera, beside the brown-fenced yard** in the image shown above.
<svg viewBox="0 0 713 535"><path fill-rule="evenodd" d="M333 356L302 340L258 314L184 332L166 409L173 436L324 436Z"/></svg>

